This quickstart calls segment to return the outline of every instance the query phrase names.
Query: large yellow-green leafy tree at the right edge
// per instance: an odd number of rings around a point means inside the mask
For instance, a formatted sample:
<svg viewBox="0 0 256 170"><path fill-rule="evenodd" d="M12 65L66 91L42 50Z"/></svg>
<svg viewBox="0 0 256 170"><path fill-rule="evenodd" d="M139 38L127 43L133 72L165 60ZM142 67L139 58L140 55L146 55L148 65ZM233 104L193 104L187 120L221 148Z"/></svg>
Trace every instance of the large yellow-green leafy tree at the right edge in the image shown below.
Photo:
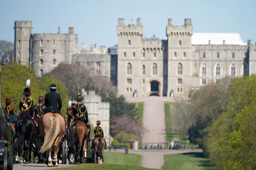
<svg viewBox="0 0 256 170"><path fill-rule="evenodd" d="M220 169L256 169L256 75L238 78L230 107L209 128L205 149Z"/></svg>

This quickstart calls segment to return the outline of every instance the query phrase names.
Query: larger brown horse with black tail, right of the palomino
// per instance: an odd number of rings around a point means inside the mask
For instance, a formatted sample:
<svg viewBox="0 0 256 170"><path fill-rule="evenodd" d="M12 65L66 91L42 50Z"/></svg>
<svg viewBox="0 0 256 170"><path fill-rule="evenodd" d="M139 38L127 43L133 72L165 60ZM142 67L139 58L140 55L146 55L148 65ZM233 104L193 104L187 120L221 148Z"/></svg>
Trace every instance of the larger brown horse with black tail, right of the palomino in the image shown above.
<svg viewBox="0 0 256 170"><path fill-rule="evenodd" d="M80 164L80 162L85 163L85 152L87 147L87 135L88 129L86 124L82 121L74 121L69 126L69 149L70 156L69 158L73 158L73 154L77 158L76 164ZM82 150L81 150L82 147Z"/></svg>

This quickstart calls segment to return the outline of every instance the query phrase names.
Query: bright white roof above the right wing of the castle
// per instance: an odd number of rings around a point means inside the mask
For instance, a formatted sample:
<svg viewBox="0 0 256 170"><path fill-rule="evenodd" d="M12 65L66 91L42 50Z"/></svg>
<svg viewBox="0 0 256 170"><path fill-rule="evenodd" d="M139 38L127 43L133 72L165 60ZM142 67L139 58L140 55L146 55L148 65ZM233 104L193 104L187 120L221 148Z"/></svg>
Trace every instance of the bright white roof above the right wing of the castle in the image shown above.
<svg viewBox="0 0 256 170"><path fill-rule="evenodd" d="M247 45L243 42L239 33L193 33L192 44L234 44L234 45Z"/></svg>

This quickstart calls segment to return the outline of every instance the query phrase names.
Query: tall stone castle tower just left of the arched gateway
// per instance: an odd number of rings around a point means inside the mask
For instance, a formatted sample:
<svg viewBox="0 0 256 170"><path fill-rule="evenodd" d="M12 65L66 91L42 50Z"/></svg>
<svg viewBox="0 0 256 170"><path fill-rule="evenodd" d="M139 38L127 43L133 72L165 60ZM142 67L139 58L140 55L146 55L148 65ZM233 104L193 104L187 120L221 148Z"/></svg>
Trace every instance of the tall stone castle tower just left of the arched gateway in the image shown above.
<svg viewBox="0 0 256 170"><path fill-rule="evenodd" d="M125 25L124 19L118 19L118 94L129 92L129 96L132 96L135 90L140 90L136 84L141 84L141 78L139 77L141 72L138 69L141 67L142 35L143 26L140 18L137 19L136 25L133 20L131 20L131 24ZM127 73L128 65L131 65L131 73ZM127 79L131 79L132 83L127 85Z"/></svg>

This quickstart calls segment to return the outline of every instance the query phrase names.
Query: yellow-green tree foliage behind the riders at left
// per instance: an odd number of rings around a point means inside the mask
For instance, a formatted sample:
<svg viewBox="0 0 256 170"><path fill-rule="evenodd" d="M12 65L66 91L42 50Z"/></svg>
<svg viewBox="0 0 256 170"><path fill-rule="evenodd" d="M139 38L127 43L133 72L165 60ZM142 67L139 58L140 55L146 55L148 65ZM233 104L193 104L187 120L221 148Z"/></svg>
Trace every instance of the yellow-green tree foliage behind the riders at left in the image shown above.
<svg viewBox="0 0 256 170"><path fill-rule="evenodd" d="M51 76L44 76L37 78L34 70L30 70L26 66L22 66L17 62L12 62L10 65L1 66L1 104L5 107L5 99L8 96L12 99L11 105L16 111L19 110L19 101L23 96L23 90L26 88L26 80L30 79L30 89L32 91L31 98L34 105L38 104L38 96L45 96L48 93L49 86L52 83L57 85L57 92L61 94L63 107L62 114L66 114L66 108L69 97L67 95L67 88Z"/></svg>

